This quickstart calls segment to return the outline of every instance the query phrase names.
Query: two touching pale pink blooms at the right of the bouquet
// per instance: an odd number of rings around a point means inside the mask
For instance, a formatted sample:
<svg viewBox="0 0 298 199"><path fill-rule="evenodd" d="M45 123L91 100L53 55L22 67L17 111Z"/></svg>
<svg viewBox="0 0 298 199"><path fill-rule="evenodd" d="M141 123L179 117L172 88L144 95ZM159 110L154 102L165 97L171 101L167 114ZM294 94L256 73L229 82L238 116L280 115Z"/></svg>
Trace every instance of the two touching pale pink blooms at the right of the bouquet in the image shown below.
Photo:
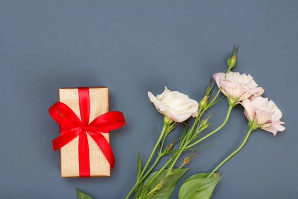
<svg viewBox="0 0 298 199"><path fill-rule="evenodd" d="M276 135L277 131L285 130L280 121L283 114L276 104L268 98L263 98L262 87L258 87L253 78L245 74L229 72L213 75L218 87L222 87L223 94L229 101L240 103L244 107L245 117L254 127L262 128Z"/></svg>

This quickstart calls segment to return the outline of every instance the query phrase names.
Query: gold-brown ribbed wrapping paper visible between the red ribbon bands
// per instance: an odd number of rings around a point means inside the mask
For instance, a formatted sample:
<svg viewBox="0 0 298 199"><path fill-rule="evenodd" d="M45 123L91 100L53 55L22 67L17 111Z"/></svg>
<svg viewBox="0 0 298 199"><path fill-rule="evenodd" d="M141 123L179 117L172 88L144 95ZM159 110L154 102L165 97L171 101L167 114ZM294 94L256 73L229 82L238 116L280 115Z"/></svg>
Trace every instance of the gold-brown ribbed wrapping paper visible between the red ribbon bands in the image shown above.
<svg viewBox="0 0 298 199"><path fill-rule="evenodd" d="M107 87L89 87L89 122L109 111L109 91ZM59 101L67 104L80 118L77 88L59 89ZM81 119L81 118L80 118ZM102 133L109 142L109 134ZM110 165L96 142L87 134L90 155L90 177L110 176ZM78 136L60 149L61 177L79 177Z"/></svg>

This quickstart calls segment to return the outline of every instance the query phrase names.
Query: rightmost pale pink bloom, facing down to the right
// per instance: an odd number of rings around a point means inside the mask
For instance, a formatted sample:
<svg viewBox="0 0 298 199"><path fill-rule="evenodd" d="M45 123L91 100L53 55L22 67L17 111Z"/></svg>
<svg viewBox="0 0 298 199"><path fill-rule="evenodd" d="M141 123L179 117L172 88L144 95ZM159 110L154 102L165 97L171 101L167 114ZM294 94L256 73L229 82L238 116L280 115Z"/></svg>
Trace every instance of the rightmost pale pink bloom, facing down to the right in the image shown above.
<svg viewBox="0 0 298 199"><path fill-rule="evenodd" d="M252 122L254 117L254 125L266 131L272 132L276 135L277 131L285 130L281 124L285 122L280 121L283 114L275 103L268 98L251 97L251 99L238 102L244 107L245 117Z"/></svg>

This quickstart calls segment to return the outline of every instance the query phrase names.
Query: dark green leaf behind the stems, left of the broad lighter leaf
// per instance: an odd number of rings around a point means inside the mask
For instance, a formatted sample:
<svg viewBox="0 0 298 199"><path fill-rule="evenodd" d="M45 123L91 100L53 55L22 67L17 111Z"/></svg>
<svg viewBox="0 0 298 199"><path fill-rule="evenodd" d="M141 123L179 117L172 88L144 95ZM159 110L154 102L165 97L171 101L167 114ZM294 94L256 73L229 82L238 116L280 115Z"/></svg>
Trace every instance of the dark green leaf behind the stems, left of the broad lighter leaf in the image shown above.
<svg viewBox="0 0 298 199"><path fill-rule="evenodd" d="M154 193L153 196L150 196L148 199L169 199L172 195L175 186L177 182L180 180L180 178L185 174L185 172L188 170L188 168L179 169L172 169L172 172L175 172L174 174L168 176L164 179L164 176L167 173L167 169L164 169L155 179L155 181L149 186L149 191L152 190L157 184L162 182L162 187L160 190ZM156 174L157 172L150 173L147 178L144 180L144 184L148 183L149 180ZM163 181L164 180L164 181Z"/></svg>

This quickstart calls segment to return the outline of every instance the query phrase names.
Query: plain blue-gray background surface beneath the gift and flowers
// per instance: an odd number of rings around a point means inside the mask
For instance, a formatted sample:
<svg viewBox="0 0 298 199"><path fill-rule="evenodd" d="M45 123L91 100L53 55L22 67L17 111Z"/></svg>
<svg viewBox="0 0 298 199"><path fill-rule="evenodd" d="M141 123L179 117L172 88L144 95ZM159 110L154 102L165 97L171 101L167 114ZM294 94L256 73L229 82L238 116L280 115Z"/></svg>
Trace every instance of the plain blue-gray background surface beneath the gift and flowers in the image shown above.
<svg viewBox="0 0 298 199"><path fill-rule="evenodd" d="M1 0L1 198L74 199L75 187L95 199L124 198L135 183L138 149L144 163L162 125L147 91L156 95L167 86L199 100L238 43L233 71L251 74L265 89L286 130L275 137L253 132L220 169L212 199L297 199L297 9L296 0ZM48 107L60 87L99 85L109 87L110 110L122 111L127 122L111 132L115 169L106 178L61 178L51 142L59 129ZM224 119L226 100L214 108L211 129ZM200 150L177 188L192 174L212 171L246 129L237 106L201 146L218 144Z"/></svg>

